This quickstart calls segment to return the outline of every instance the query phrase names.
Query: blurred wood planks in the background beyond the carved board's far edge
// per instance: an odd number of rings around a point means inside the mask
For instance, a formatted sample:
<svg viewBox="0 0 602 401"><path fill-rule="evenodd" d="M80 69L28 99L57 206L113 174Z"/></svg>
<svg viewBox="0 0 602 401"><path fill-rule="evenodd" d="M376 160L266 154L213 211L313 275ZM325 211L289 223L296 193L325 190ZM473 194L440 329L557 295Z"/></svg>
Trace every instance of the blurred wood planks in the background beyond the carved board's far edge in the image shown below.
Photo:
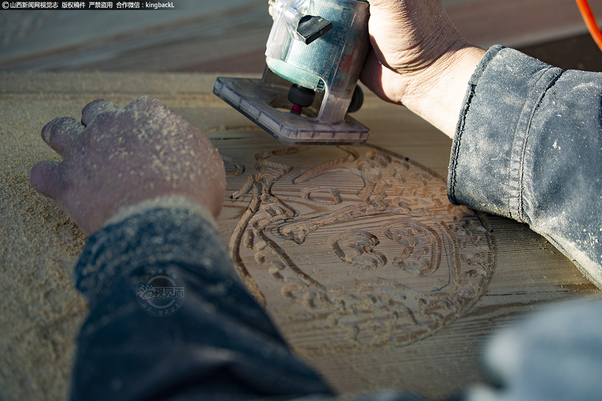
<svg viewBox="0 0 602 401"><path fill-rule="evenodd" d="M443 3L458 31L484 48L587 32L574 0ZM602 0L589 3L602 18ZM0 11L0 69L261 73L272 26L266 0L182 4L173 11Z"/></svg>

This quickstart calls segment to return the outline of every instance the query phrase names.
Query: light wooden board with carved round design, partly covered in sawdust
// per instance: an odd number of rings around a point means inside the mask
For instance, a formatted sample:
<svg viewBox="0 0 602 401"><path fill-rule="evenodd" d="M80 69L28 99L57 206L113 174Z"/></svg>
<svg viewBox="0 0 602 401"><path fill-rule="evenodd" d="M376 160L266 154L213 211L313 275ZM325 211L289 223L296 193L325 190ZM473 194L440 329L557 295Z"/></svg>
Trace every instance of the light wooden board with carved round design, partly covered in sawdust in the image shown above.
<svg viewBox="0 0 602 401"><path fill-rule="evenodd" d="M64 397L85 302L69 283L85 241L28 185L58 160L43 124L87 102L150 94L225 157L220 233L293 350L340 393L440 399L481 380L489 333L547 302L600 296L525 225L445 198L450 139L367 94L366 147L282 145L212 93L215 76L0 73L0 398Z"/></svg>

